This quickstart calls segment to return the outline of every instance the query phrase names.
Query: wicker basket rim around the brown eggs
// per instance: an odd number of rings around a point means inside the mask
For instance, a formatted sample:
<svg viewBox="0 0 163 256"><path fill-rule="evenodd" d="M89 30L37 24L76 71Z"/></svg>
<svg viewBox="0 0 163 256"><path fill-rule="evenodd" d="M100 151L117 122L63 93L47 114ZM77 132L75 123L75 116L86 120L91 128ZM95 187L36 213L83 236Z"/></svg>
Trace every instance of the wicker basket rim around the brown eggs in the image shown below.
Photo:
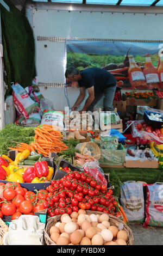
<svg viewBox="0 0 163 256"><path fill-rule="evenodd" d="M89 211L87 210L86 211L87 214L99 214L99 215L102 215L103 212L100 212L100 211ZM127 245L133 245L133 241L134 241L134 237L133 237L133 234L132 234L132 231L131 229L128 227L128 225L126 223L124 223L122 220L120 220L119 218L117 217L114 217L110 214L107 214L109 216L109 222L110 222L110 225L115 225L116 227L118 227L118 225L120 223L123 224L123 230L127 232L128 234L128 240L127 240ZM61 218L61 215L56 215L54 217L50 217L48 220L47 220L47 225L46 225L46 228L44 230L44 237L45 237L45 242L46 242L46 245L56 245L56 243L54 243L52 240L51 240L51 237L49 236L49 229L55 225L57 222L60 221L60 218Z"/></svg>

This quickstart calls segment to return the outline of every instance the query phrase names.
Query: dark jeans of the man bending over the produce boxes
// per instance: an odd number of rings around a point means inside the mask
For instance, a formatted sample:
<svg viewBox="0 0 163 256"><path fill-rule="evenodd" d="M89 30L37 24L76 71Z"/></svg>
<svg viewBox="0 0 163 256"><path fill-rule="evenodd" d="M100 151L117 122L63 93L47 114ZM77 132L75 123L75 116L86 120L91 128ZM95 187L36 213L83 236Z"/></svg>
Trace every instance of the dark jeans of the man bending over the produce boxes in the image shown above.
<svg viewBox="0 0 163 256"><path fill-rule="evenodd" d="M112 102L114 100L114 95L116 92L116 85L112 85L110 87L107 87L104 89L103 92L96 94L95 99L92 101L91 105L87 109L87 111L93 112L93 107L96 105L96 103L105 95L104 98L104 111L114 111L114 107L112 105Z"/></svg>

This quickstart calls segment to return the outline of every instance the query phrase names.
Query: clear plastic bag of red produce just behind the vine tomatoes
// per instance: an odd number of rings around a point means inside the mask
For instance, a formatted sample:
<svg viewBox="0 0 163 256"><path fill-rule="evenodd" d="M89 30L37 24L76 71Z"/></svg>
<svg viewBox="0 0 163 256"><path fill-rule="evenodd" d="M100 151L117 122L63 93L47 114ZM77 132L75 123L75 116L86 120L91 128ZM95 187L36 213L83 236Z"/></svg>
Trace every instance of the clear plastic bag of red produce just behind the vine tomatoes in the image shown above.
<svg viewBox="0 0 163 256"><path fill-rule="evenodd" d="M83 169L86 174L90 174L93 176L97 182L100 184L104 184L105 186L108 185L108 181L105 178L104 172L101 167L99 167L99 163L97 160L93 162L86 162L83 166Z"/></svg>

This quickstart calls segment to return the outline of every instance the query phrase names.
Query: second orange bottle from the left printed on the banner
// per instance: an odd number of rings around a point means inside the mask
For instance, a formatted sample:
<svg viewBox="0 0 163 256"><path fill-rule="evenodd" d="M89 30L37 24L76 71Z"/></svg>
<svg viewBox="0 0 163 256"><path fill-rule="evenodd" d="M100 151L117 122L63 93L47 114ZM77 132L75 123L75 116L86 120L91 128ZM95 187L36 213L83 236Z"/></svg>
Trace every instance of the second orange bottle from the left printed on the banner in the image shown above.
<svg viewBox="0 0 163 256"><path fill-rule="evenodd" d="M159 75L156 68L154 68L151 61L151 54L146 54L145 68L143 69L143 74L146 77L146 82L148 84L148 89L159 88Z"/></svg>

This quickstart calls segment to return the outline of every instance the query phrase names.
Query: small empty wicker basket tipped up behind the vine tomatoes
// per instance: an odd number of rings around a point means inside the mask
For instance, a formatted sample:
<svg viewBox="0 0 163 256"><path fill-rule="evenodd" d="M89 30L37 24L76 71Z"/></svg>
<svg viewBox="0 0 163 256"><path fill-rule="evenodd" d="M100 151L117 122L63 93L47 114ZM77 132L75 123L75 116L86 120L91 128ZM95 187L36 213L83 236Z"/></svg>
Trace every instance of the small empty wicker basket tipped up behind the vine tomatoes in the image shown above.
<svg viewBox="0 0 163 256"><path fill-rule="evenodd" d="M98 147L98 145L95 142L84 142L84 143L79 143L76 146L76 149L80 151L82 155L84 155L84 149L87 148L88 150L91 151L92 157L95 159L99 160L101 157L101 150Z"/></svg>

